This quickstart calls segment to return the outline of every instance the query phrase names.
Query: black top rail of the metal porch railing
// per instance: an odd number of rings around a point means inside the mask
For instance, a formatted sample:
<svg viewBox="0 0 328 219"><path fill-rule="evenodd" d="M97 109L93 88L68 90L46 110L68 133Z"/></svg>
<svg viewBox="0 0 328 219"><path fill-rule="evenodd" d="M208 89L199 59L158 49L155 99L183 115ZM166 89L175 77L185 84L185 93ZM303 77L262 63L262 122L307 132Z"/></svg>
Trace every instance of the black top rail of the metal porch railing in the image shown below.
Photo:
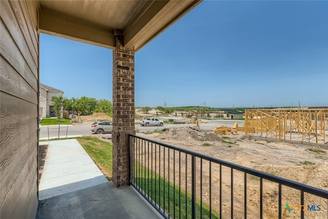
<svg viewBox="0 0 328 219"><path fill-rule="evenodd" d="M168 145L168 144L165 144L165 143L150 140L150 139L145 138L145 137L140 137L140 136L136 136L136 135L133 135L133 134L129 134L129 136L139 138L140 140L145 140L145 141L148 141L148 142L151 142L151 143L163 146L163 147L174 149L174 150L186 153L186 154L190 154L192 156L196 156L196 157L202 158L204 160L207 160L207 161L210 161L210 162L213 162L213 163L216 163L216 164L220 164L220 165L230 167L230 168L235 169L235 170L239 170L241 172L245 172L245 173L249 173L249 174L258 176L258 177L263 178L265 180L269 180L269 181L272 181L272 182L275 182L275 183L279 183L283 186L288 186L288 187L291 187L291 188L294 188L294 189L297 189L297 190L308 192L308 193L317 195L319 197L323 197L323 198L328 199L328 191L323 190L323 189L319 189L319 188L316 188L316 187L304 185L304 184L301 184L301 183L298 183L298 182L295 182L295 181L287 180L287 179L279 177L279 176L271 175L269 173L260 172L260 171L257 171L257 170L254 170L254 169L251 169L251 168L248 168L248 167L243 167L243 166L233 164L233 163L230 163L230 162L227 162L227 161L222 161L222 160L219 160L217 158L207 156L207 155L204 155L204 154L200 154L200 153L197 153L197 152L194 152L194 151L190 151L190 150L186 150L186 149L183 149L183 148L178 148L176 146L172 146L172 145Z"/></svg>

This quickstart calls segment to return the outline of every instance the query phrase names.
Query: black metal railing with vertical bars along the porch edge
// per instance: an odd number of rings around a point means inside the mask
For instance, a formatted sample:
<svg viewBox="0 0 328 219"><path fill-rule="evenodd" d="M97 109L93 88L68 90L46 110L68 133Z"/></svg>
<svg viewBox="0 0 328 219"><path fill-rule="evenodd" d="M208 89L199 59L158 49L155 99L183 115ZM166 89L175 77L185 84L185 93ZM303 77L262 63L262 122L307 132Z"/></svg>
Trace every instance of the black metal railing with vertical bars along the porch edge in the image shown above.
<svg viewBox="0 0 328 219"><path fill-rule="evenodd" d="M326 190L136 135L129 147L130 185L166 218L328 217Z"/></svg>

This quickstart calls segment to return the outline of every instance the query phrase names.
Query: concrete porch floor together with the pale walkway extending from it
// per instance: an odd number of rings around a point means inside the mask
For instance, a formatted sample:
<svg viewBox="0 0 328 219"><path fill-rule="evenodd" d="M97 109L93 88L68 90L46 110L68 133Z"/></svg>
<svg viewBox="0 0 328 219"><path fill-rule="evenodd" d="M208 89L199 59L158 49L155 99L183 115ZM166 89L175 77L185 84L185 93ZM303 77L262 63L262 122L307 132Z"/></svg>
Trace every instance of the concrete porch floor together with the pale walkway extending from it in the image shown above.
<svg viewBox="0 0 328 219"><path fill-rule="evenodd" d="M108 182L76 140L62 140L48 145L36 218L163 217L132 186Z"/></svg>

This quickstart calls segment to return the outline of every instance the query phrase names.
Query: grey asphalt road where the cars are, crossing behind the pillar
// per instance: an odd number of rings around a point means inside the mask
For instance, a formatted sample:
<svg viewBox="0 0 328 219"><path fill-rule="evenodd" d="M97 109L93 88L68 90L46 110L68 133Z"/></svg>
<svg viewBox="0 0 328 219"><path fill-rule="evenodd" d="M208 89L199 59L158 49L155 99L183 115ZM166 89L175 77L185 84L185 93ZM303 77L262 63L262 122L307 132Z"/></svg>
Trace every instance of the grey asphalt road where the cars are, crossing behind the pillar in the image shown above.
<svg viewBox="0 0 328 219"><path fill-rule="evenodd" d="M234 123L237 122L238 126L243 126L244 121L234 121L234 120L212 120L212 121L200 121L199 126L204 131L211 131L218 126L228 126L233 127ZM194 126L194 124L165 124L164 126L140 126L136 125L135 129L139 132L146 132L152 130L162 130L165 128L179 128L186 126ZM72 126L72 125L61 125L60 126L60 136L76 136L76 135L90 135L90 126ZM53 138L58 136L58 126L40 126L40 138Z"/></svg>

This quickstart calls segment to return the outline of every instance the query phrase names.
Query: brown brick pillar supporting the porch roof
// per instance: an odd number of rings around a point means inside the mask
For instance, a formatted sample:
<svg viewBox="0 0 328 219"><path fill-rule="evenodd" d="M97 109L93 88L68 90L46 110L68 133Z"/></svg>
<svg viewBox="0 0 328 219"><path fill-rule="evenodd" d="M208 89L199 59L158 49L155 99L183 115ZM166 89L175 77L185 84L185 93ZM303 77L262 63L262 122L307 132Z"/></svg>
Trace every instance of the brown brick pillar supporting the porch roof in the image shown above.
<svg viewBox="0 0 328 219"><path fill-rule="evenodd" d="M124 48L124 37L116 35L113 50L113 182L129 184L128 134L134 129L134 50Z"/></svg>

